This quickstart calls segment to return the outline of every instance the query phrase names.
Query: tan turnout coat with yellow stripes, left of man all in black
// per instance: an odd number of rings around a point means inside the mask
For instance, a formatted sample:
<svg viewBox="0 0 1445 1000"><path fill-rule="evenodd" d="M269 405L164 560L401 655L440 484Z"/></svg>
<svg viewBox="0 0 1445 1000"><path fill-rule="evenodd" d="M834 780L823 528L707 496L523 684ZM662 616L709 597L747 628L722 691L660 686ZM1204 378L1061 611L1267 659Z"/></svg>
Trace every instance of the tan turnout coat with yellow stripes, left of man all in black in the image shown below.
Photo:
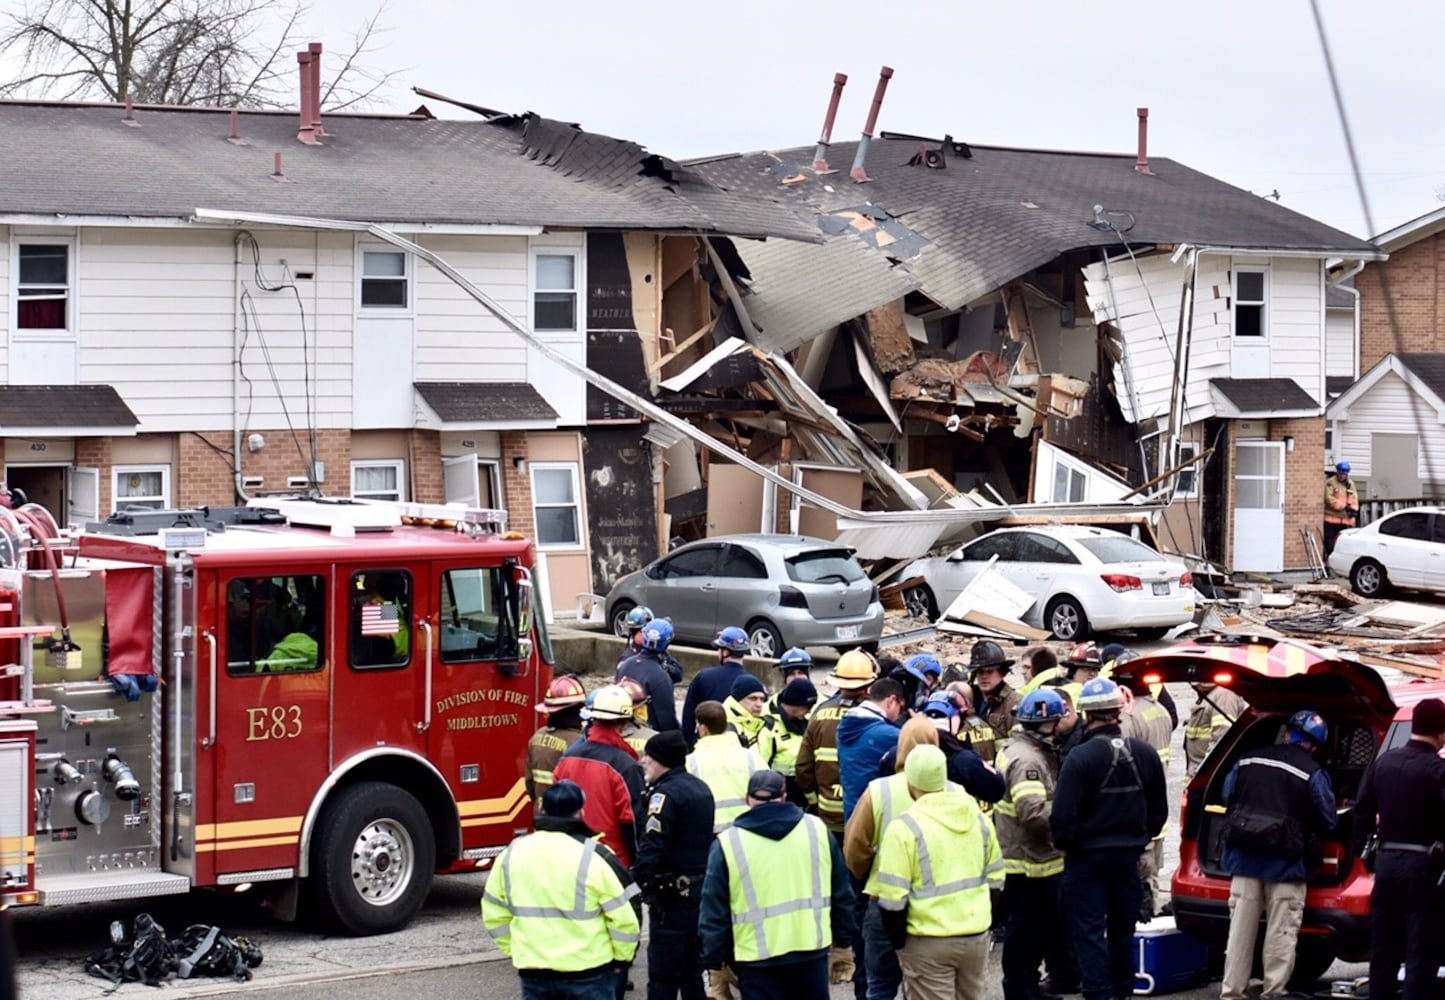
<svg viewBox="0 0 1445 1000"><path fill-rule="evenodd" d="M998 751L998 772L1009 790L994 803L994 824L1004 871L1029 879L1064 873L1064 854L1053 847L1049 812L1059 782L1059 757L1022 731Z"/></svg>

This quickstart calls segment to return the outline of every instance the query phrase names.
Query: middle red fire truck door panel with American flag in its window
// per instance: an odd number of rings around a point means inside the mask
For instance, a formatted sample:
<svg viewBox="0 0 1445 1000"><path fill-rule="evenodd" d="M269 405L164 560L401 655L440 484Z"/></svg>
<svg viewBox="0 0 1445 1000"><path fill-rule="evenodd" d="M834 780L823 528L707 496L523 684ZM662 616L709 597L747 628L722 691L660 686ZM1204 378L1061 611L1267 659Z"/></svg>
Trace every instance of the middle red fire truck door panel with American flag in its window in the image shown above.
<svg viewBox="0 0 1445 1000"><path fill-rule="evenodd" d="M331 763L374 747L425 753L422 699L426 629L425 574L360 566L337 574L345 647L331 676ZM435 645L435 643L432 643Z"/></svg>

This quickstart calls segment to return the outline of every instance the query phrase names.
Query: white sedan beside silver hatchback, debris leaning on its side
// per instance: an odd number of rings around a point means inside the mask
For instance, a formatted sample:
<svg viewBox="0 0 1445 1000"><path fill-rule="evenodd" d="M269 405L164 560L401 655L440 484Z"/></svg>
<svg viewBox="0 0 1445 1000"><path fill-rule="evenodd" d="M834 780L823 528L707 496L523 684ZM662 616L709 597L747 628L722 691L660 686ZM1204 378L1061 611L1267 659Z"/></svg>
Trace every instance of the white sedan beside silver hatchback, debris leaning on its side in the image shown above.
<svg viewBox="0 0 1445 1000"><path fill-rule="evenodd" d="M899 577L923 578L903 591L909 611L936 618L994 556L994 571L1035 598L1023 620L1065 642L1114 629L1157 639L1194 617L1188 569L1127 535L1084 525L1000 527L918 559Z"/></svg>

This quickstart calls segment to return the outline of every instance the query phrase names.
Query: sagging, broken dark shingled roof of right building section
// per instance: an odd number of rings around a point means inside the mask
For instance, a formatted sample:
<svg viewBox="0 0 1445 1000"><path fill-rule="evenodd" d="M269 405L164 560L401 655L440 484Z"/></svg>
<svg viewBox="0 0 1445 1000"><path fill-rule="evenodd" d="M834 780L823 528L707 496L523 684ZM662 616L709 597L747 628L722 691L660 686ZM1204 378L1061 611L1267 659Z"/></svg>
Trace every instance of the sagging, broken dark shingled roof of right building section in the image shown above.
<svg viewBox="0 0 1445 1000"><path fill-rule="evenodd" d="M910 165L920 147L942 147L945 166ZM850 163L855 150L857 143L834 143L829 160ZM970 155L959 155L962 150ZM871 230L829 238L860 240L890 266L907 270L919 289L946 309L962 308L1065 251L1118 247L1118 233L1091 225L1095 205L1131 246L1379 254L1366 240L1170 159L1150 158L1150 172L1142 173L1133 155L961 143L944 147L935 139L883 133L867 155L873 181L854 184L847 168L816 175L809 166L812 155L812 146L799 146L691 165L734 194L793 205L824 233L838 228L834 217L840 212L861 210L881 217L880 228L890 237L884 241L868 238ZM780 250L779 257L812 260L818 253L795 246ZM766 280L766 273L754 273L759 282ZM850 277L861 275L861 264L850 272ZM764 295L759 289L759 301Z"/></svg>

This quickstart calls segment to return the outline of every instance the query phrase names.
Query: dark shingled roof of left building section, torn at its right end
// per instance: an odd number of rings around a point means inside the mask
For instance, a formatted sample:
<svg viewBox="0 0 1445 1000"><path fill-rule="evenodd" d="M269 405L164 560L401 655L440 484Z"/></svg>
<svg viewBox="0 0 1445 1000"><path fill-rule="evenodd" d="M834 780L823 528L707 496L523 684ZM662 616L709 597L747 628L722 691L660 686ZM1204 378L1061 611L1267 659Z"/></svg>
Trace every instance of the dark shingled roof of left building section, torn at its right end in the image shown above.
<svg viewBox="0 0 1445 1000"><path fill-rule="evenodd" d="M769 199L538 114L491 120L0 101L0 212L189 218L198 207L340 220L816 240ZM280 173L275 156L280 155Z"/></svg>

